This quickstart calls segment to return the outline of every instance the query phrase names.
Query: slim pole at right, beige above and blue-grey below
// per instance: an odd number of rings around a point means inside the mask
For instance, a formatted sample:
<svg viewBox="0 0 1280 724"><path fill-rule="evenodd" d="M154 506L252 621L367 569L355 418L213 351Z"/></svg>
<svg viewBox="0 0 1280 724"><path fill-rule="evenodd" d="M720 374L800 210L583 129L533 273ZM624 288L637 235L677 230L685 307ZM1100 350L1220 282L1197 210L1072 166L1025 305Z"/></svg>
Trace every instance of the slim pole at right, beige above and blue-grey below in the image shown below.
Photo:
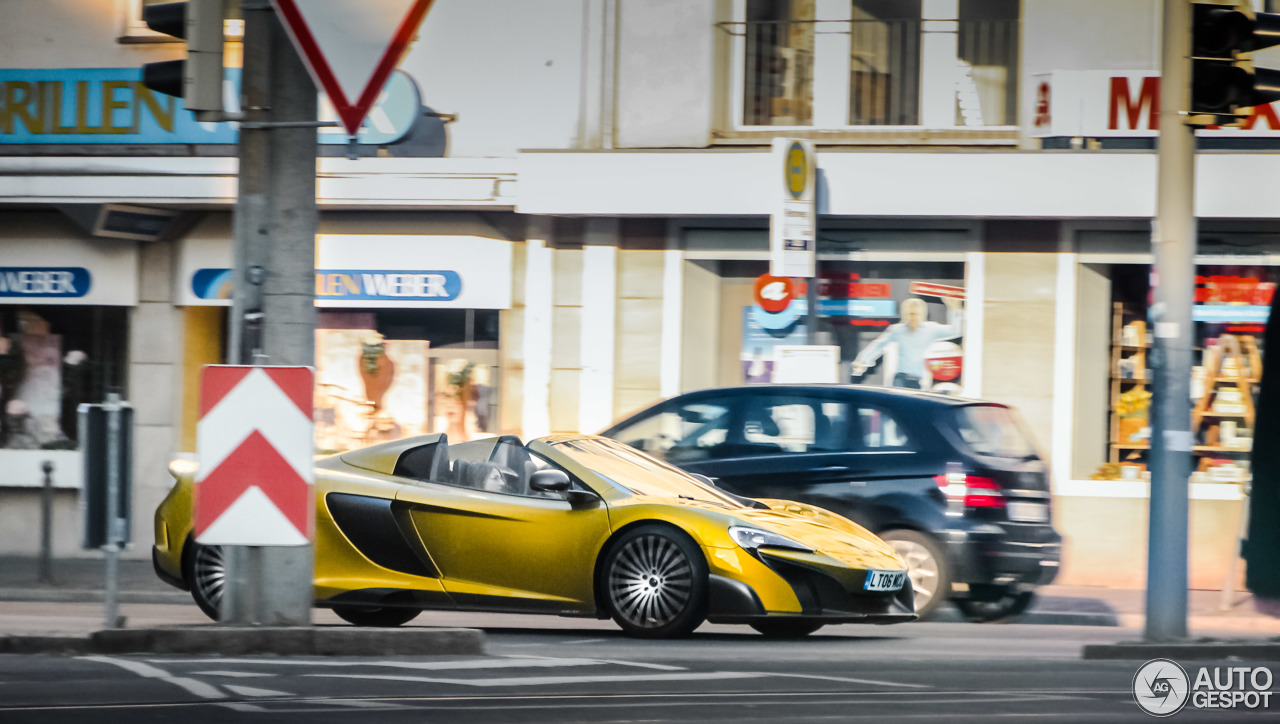
<svg viewBox="0 0 1280 724"><path fill-rule="evenodd" d="M1192 468L1192 295L1196 274L1196 130L1190 109L1188 0L1164 0L1160 150L1151 246L1155 329L1147 641L1187 638L1187 527Z"/></svg>

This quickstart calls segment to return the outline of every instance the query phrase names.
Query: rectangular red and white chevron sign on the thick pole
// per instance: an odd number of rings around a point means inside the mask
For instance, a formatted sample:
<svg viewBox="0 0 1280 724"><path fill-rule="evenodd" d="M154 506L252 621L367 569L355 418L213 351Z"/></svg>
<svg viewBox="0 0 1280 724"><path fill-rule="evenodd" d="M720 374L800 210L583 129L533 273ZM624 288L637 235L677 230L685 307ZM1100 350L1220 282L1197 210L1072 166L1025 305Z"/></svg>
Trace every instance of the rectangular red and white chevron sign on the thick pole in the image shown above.
<svg viewBox="0 0 1280 724"><path fill-rule="evenodd" d="M311 367L201 371L196 540L307 545L315 526Z"/></svg>

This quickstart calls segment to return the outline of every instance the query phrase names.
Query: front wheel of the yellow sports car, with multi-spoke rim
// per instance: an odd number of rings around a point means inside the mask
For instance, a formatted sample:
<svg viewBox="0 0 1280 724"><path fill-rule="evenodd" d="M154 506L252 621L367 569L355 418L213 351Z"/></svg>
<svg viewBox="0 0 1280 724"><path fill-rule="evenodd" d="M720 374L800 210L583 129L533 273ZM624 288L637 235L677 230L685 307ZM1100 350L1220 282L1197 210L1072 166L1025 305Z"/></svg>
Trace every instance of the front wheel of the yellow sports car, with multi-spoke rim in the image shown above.
<svg viewBox="0 0 1280 724"><path fill-rule="evenodd" d="M609 614L631 636L687 636L707 618L707 560L681 531L649 524L625 532L603 574Z"/></svg>

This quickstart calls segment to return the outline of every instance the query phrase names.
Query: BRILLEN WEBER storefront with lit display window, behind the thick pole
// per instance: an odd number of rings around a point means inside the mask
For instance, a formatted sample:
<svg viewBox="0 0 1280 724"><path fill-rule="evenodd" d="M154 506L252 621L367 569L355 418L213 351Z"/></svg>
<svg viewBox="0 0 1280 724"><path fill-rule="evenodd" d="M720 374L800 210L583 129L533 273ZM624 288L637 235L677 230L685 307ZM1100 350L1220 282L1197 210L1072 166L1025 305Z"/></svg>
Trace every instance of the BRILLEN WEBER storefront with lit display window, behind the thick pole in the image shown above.
<svg viewBox="0 0 1280 724"><path fill-rule="evenodd" d="M326 233L334 228L316 238L317 449L497 432L512 243L465 219L413 233ZM179 253L180 303L229 308L230 242L192 238ZM212 324L224 330L225 312ZM188 357L188 379L211 362L198 357Z"/></svg>

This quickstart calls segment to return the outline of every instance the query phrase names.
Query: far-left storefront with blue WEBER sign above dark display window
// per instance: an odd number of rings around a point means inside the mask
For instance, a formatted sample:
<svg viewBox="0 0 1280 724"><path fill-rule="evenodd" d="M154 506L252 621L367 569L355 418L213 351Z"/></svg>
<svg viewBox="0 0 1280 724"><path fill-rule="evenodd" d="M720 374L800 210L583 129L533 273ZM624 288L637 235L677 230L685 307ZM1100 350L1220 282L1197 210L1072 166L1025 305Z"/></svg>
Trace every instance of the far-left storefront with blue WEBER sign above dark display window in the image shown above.
<svg viewBox="0 0 1280 724"><path fill-rule="evenodd" d="M0 265L0 486L79 487L76 408L124 390L137 242L58 233L51 215L12 217Z"/></svg>

